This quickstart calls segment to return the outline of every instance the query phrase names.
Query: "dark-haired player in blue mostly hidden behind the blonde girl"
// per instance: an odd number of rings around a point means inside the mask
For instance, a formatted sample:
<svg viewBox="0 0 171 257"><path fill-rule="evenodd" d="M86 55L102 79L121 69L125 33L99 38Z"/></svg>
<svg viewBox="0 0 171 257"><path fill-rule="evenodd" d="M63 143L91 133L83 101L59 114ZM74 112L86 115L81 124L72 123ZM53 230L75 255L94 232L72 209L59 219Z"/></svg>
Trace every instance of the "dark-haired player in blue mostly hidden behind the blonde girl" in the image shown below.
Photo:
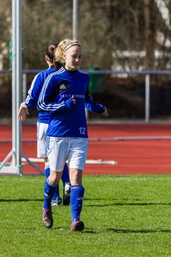
<svg viewBox="0 0 171 257"><path fill-rule="evenodd" d="M31 84L31 88L28 91L28 96L26 97L26 101L21 103L19 109L19 119L21 121L26 119L26 114L28 114L28 107L36 107L38 102L38 96L41 92L42 86L46 77L49 74L52 74L56 71L55 67L53 66L53 51L56 49L58 44L49 44L46 48L46 63L48 64L48 69L45 71L41 71L37 74ZM38 110L38 121L37 121L37 157L44 158L45 163L45 173L46 178L48 178L50 174L48 158L47 158L47 151L46 151L46 131L48 129L48 120L50 118L50 113L47 111L41 110L37 106ZM70 203L70 191L71 191L71 184L69 181L68 175L68 166L65 164L63 167L63 205L68 205ZM59 188L56 187L56 192L53 195L52 205L53 206L60 206L62 204L60 195L59 195Z"/></svg>

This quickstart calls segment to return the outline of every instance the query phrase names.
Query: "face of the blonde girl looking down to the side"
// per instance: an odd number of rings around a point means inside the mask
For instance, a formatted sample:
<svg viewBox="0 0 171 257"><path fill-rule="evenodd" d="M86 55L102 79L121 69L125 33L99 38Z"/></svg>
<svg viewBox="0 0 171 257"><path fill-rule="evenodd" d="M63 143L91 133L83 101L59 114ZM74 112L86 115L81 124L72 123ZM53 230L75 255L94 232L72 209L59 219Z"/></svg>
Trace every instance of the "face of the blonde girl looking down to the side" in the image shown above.
<svg viewBox="0 0 171 257"><path fill-rule="evenodd" d="M72 46L65 52L64 58L66 59L66 69L68 71L75 71L78 69L82 58L81 46Z"/></svg>

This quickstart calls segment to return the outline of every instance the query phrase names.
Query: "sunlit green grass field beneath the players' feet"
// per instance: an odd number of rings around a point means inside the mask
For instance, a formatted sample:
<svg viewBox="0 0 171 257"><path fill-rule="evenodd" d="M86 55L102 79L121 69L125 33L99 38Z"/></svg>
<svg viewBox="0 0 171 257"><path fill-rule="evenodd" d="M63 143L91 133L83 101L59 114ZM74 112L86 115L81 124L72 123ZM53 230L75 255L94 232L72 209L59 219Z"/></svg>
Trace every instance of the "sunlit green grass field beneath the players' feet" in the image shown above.
<svg viewBox="0 0 171 257"><path fill-rule="evenodd" d="M70 206L53 206L43 227L44 180L0 176L0 256L171 256L171 175L84 176L75 233Z"/></svg>

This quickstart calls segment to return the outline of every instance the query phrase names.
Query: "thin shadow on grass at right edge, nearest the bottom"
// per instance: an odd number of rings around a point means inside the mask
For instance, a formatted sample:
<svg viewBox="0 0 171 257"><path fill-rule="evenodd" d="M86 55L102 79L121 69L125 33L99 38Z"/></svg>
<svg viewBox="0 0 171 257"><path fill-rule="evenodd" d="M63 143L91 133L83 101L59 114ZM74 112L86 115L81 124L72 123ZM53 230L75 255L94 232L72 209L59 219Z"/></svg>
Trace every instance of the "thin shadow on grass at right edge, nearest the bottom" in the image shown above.
<svg viewBox="0 0 171 257"><path fill-rule="evenodd" d="M169 229L140 229L140 230L132 230L132 229L116 229L116 228L108 228L108 231L113 231L114 233L171 233Z"/></svg>

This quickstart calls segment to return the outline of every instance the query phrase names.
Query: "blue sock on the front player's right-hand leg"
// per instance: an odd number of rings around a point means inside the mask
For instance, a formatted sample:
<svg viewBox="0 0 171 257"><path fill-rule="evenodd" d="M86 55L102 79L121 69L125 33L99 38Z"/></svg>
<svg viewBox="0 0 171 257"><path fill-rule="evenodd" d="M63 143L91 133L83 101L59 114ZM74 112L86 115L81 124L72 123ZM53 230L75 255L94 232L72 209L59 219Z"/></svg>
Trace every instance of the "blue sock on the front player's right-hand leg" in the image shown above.
<svg viewBox="0 0 171 257"><path fill-rule="evenodd" d="M71 186L71 216L73 222L74 218L79 218L83 206L84 188L80 186Z"/></svg>

